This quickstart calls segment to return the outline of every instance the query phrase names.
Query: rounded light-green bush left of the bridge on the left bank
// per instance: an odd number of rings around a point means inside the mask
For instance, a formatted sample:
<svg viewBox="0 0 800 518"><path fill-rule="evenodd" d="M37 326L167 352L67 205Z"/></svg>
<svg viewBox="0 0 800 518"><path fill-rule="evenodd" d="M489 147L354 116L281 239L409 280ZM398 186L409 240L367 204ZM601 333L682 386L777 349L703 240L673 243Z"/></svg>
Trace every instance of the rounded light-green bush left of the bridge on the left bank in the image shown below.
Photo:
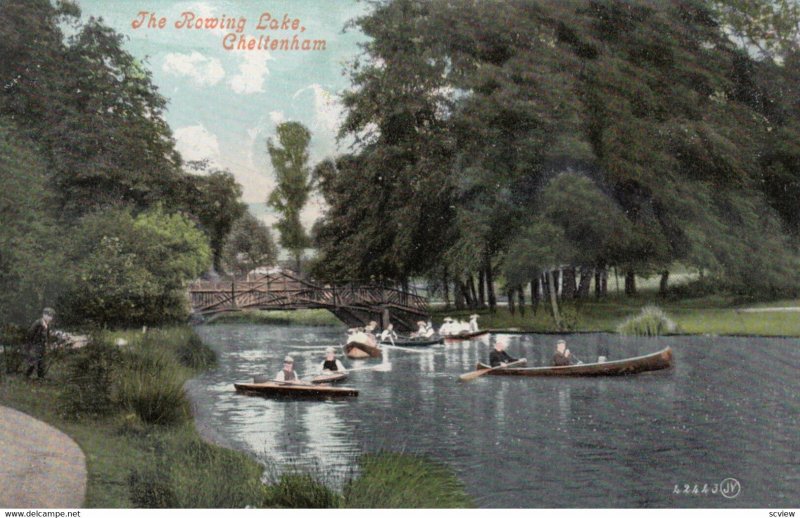
<svg viewBox="0 0 800 518"><path fill-rule="evenodd" d="M186 318L185 283L210 262L205 236L180 214L156 208L84 217L68 252L75 265L65 319L141 325Z"/></svg>

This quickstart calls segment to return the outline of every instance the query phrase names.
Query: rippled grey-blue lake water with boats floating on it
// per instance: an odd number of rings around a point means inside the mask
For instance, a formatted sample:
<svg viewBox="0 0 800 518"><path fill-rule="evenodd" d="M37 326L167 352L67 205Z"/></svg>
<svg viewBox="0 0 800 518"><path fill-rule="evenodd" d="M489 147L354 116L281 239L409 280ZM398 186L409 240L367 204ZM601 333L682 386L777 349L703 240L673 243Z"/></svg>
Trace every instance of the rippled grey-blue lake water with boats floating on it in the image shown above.
<svg viewBox="0 0 800 518"><path fill-rule="evenodd" d="M797 507L800 340L567 335L587 361L669 345L675 367L620 378L457 377L495 336L423 352L386 350L353 372L356 398L239 395L234 381L274 375L286 354L312 374L344 329L197 328L219 367L188 389L201 433L265 464L308 467L334 484L361 452L392 450L450 466L480 507ZM558 336L506 336L512 356L547 362ZM349 361L377 365L381 360ZM735 498L719 484L739 482ZM696 487L696 493L695 493ZM735 484L727 485L733 489ZM705 489L705 491L704 491Z"/></svg>

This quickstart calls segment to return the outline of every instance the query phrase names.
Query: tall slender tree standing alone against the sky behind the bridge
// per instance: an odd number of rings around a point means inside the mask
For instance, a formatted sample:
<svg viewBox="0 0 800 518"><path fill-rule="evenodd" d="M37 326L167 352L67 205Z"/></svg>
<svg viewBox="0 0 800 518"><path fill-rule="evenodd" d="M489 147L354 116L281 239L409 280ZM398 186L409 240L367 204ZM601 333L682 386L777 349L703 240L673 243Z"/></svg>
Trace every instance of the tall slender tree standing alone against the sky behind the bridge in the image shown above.
<svg viewBox="0 0 800 518"><path fill-rule="evenodd" d="M271 138L267 140L277 181L267 203L280 215L275 225L280 232L280 244L292 254L299 272L303 251L310 245L300 212L311 192L308 168L311 133L299 122L283 122L278 125L277 134L277 142Z"/></svg>

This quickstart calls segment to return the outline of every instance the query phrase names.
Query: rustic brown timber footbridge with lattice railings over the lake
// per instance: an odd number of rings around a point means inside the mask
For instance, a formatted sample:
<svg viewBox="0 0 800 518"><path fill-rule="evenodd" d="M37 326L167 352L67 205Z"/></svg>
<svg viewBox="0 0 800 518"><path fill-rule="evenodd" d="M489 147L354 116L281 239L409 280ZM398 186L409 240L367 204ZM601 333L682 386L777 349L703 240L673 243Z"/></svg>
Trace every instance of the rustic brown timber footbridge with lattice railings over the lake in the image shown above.
<svg viewBox="0 0 800 518"><path fill-rule="evenodd" d="M374 320L401 331L427 320L428 301L416 292L382 285L320 285L286 270L252 280L196 281L189 285L193 315L249 309L327 309L350 327Z"/></svg>

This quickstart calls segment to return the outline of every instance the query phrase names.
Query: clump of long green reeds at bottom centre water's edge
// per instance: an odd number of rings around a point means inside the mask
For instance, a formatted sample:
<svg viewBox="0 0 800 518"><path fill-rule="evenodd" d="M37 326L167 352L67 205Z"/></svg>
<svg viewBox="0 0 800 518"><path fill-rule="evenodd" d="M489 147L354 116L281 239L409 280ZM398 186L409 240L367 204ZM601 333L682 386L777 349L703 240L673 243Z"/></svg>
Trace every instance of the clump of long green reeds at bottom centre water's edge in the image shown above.
<svg viewBox="0 0 800 518"><path fill-rule="evenodd" d="M414 455L363 455L361 474L344 489L350 508L464 508L472 501L446 467Z"/></svg>

